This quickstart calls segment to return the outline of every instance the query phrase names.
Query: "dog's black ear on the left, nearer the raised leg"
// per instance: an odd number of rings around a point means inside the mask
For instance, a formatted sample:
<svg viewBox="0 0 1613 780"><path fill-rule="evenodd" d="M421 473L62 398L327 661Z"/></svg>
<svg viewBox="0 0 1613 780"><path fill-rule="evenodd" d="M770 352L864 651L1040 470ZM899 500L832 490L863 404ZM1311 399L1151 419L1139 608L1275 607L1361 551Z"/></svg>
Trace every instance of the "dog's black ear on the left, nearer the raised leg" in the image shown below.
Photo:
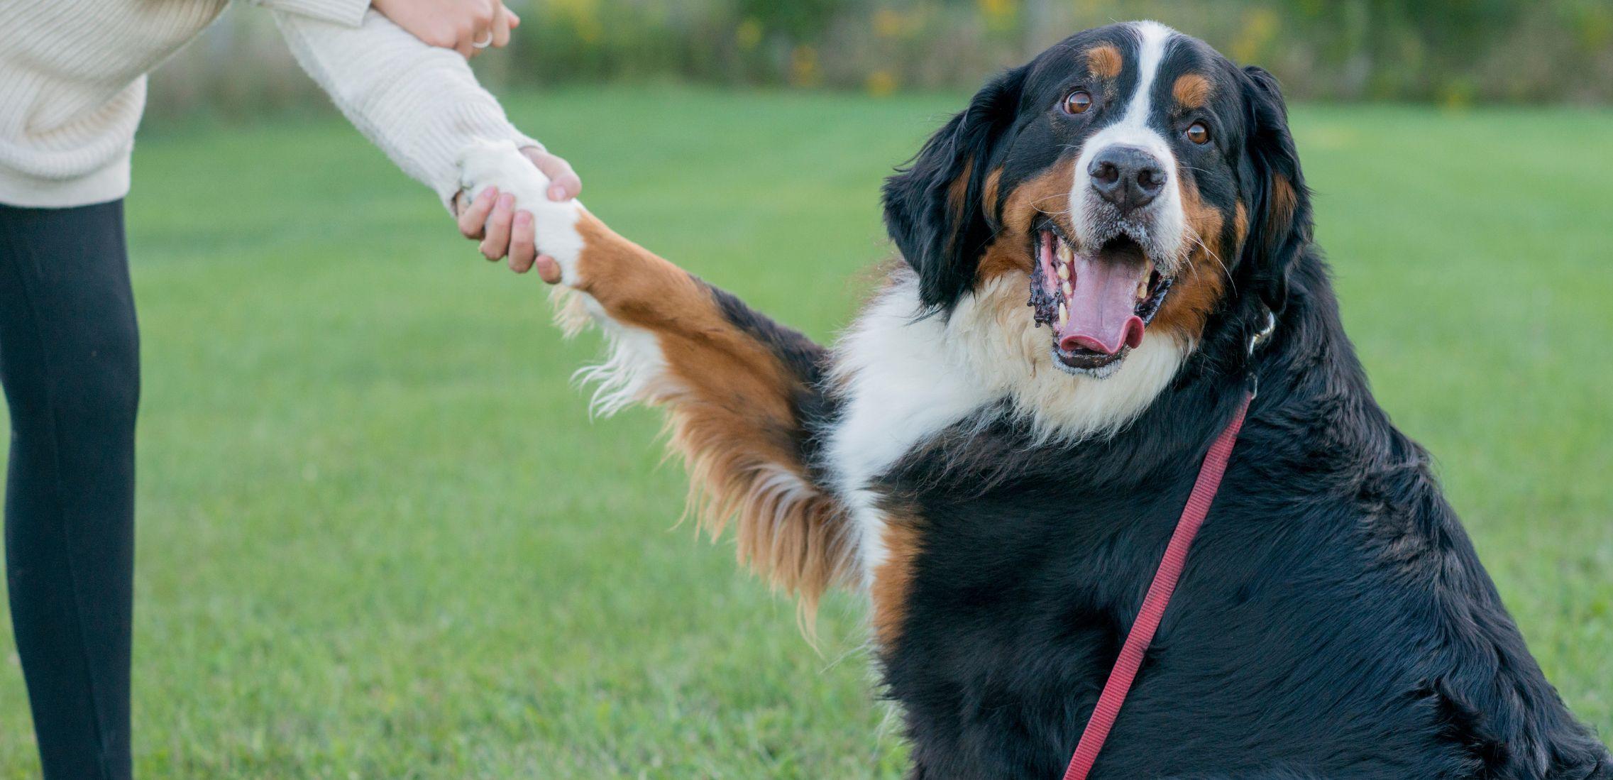
<svg viewBox="0 0 1613 780"><path fill-rule="evenodd" d="M974 284L995 227L981 203L992 151L1013 126L1024 68L981 89L924 148L886 179L886 230L919 279L927 309L948 308Z"/></svg>

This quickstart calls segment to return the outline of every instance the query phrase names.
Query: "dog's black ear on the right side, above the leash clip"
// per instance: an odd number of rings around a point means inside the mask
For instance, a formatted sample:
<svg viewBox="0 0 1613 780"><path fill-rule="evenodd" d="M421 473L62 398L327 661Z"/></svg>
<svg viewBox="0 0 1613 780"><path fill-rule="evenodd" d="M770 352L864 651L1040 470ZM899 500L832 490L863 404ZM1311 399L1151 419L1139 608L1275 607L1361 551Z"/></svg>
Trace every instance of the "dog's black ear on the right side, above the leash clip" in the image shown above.
<svg viewBox="0 0 1613 780"><path fill-rule="evenodd" d="M1242 264L1261 301L1281 313L1289 272L1311 242L1310 190L1289 134L1289 110L1277 79L1263 68L1244 68L1248 111L1248 239Z"/></svg>

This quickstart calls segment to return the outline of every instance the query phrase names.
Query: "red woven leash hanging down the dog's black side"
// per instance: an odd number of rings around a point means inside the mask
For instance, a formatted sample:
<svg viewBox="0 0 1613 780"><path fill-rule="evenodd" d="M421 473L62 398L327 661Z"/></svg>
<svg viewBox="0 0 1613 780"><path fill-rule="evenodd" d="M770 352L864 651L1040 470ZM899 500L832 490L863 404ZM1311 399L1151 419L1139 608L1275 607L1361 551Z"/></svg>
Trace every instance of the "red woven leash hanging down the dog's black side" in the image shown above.
<svg viewBox="0 0 1613 780"><path fill-rule="evenodd" d="M1119 706L1126 703L1131 682L1137 677L1137 667L1142 666L1142 654L1148 651L1153 632L1160 627L1160 617L1165 616L1165 606L1171 603L1171 593L1176 591L1176 580L1182 575L1182 564L1187 562L1187 548L1192 546L1194 537L1198 535L1198 527L1203 525L1205 514L1210 512L1210 503L1215 501L1215 493L1221 488L1226 461L1232 458L1232 445L1237 443L1237 430L1244 427L1244 414L1248 413L1248 401L1252 398L1252 395L1244 395L1244 403L1237 408L1237 414L1232 416L1232 421L1226 424L1226 430L1216 437L1215 443L1210 445L1210 451L1205 453L1205 463L1198 467L1198 479L1194 482L1192 495L1187 496L1182 519L1176 521L1176 532L1171 533L1171 543L1165 548L1165 559L1160 561L1160 570L1153 572L1153 583L1148 585L1148 595L1142 600L1142 611L1137 612L1137 620L1131 624L1126 643L1119 648L1119 658L1115 659L1115 669L1110 670L1110 678L1103 683L1098 706L1092 709L1092 719L1087 720L1087 728L1081 732L1081 745L1076 746L1076 756L1069 759L1065 780L1087 780L1092 762L1098 759L1098 751L1103 749L1103 740L1108 740L1108 730L1115 725L1115 716L1119 714Z"/></svg>

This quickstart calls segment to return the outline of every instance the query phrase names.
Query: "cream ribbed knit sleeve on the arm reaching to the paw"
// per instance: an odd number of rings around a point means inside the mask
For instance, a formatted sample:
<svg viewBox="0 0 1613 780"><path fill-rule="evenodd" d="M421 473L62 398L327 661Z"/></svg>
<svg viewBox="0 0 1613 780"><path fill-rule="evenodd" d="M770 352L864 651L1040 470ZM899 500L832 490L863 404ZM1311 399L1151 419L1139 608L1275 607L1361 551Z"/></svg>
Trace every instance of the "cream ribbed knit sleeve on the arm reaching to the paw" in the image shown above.
<svg viewBox="0 0 1613 780"><path fill-rule="evenodd" d="M339 0L268 0L292 55L337 108L408 176L453 211L460 155L473 143L542 143L521 134L450 48L427 45L377 11L356 27L287 8ZM274 8L279 6L279 8Z"/></svg>

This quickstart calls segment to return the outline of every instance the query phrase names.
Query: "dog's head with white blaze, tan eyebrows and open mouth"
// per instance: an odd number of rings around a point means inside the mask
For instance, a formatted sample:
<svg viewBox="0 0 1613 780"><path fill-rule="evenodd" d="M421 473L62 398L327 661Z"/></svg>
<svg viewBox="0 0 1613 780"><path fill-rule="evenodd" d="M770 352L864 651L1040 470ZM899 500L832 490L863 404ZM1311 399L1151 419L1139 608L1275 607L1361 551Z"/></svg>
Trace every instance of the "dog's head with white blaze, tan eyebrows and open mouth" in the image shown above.
<svg viewBox="0 0 1613 780"><path fill-rule="evenodd" d="M1157 23L1060 42L987 84L884 190L932 311L1027 274L1066 372L1145 337L1281 311L1310 205L1276 81ZM1245 314L1247 311L1247 314ZM1263 311L1261 311L1263 316Z"/></svg>

